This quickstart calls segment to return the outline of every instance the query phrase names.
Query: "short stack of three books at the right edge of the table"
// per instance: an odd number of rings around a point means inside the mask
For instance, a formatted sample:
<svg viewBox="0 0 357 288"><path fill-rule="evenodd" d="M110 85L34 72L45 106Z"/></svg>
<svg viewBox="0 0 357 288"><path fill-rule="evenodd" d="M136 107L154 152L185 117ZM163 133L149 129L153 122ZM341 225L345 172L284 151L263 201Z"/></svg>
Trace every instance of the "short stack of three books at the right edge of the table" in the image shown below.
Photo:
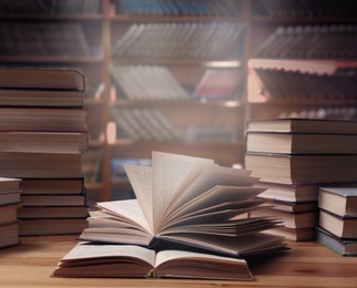
<svg viewBox="0 0 357 288"><path fill-rule="evenodd" d="M357 187L320 187L316 239L343 256L357 256Z"/></svg>

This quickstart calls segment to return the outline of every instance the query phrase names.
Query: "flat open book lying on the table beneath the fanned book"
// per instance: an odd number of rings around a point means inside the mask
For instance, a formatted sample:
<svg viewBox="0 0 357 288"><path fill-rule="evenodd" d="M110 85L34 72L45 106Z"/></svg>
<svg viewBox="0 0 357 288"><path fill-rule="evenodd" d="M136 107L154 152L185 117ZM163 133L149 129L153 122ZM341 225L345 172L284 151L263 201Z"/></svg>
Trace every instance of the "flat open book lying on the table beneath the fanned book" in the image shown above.
<svg viewBox="0 0 357 288"><path fill-rule="evenodd" d="M53 277L131 277L253 280L244 259L185 250L154 251L132 245L78 244Z"/></svg>

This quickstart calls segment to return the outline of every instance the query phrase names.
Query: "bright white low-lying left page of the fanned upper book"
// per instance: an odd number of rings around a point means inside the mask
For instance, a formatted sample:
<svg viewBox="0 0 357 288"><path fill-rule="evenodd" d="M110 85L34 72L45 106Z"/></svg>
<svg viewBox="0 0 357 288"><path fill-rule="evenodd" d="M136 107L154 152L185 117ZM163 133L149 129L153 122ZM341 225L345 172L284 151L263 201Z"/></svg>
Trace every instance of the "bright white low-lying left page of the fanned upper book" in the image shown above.
<svg viewBox="0 0 357 288"><path fill-rule="evenodd" d="M121 217L128 218L142 226L149 233L153 233L139 205L137 199L101 202L98 203L98 206L111 213L118 214Z"/></svg>

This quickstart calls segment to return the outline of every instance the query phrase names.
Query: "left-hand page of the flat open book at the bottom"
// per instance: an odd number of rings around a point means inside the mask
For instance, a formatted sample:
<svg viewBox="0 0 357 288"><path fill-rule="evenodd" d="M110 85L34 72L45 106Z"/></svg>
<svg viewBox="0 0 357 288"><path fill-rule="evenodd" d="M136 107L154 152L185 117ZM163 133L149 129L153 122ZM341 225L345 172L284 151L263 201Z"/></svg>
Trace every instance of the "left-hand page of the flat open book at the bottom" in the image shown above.
<svg viewBox="0 0 357 288"><path fill-rule="evenodd" d="M133 245L92 245L80 243L61 261L85 260L93 258L133 257L152 267L155 265L155 251Z"/></svg>

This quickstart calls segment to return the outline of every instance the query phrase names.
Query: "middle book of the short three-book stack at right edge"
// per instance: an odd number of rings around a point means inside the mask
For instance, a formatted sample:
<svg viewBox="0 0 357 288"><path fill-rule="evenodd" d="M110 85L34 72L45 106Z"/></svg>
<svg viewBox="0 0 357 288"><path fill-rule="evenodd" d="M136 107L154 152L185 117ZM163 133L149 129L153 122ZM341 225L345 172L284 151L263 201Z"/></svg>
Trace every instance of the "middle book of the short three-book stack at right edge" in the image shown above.
<svg viewBox="0 0 357 288"><path fill-rule="evenodd" d="M357 217L341 217L320 208L319 226L339 238L357 238Z"/></svg>

